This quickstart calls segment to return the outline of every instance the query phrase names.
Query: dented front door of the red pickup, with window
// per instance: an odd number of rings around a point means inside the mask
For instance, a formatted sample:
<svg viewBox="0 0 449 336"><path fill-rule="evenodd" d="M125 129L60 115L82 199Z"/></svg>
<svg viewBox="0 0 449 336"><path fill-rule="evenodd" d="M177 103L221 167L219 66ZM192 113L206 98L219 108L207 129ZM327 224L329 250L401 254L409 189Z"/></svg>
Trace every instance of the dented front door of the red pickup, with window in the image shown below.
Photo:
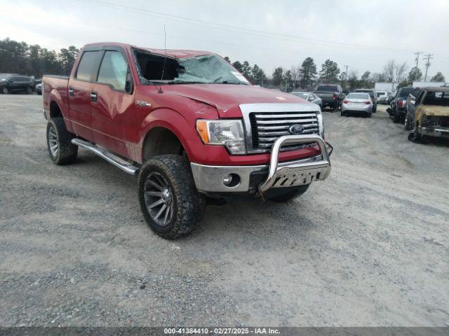
<svg viewBox="0 0 449 336"><path fill-rule="evenodd" d="M95 144L110 151L130 156L124 136L127 124L133 122L133 78L125 50L105 48L91 95L92 130Z"/></svg>

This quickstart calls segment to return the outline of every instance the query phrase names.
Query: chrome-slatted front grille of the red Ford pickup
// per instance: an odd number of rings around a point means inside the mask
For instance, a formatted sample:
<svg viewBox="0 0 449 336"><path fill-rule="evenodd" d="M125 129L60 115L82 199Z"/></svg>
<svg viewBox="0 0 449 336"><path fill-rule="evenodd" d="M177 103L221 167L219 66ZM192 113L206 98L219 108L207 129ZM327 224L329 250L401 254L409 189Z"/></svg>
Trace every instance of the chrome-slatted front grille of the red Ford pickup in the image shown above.
<svg viewBox="0 0 449 336"><path fill-rule="evenodd" d="M302 134L319 134L319 120L316 112L251 112L249 119L253 151L269 151L279 137L291 135L289 129L293 125L302 125L304 127ZM281 151L293 151L311 145L313 143L290 144L283 146Z"/></svg>

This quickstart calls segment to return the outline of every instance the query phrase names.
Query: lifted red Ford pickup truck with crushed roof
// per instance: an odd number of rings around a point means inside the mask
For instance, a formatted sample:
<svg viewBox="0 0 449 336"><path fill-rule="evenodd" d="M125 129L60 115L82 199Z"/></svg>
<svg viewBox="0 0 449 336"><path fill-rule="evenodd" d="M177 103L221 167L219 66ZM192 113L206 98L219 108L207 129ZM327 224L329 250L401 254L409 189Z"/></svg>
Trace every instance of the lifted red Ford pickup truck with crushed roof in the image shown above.
<svg viewBox="0 0 449 336"><path fill-rule="evenodd" d="M207 201L286 202L330 173L319 106L250 85L212 52L88 44L69 77L43 77L43 113L51 160L83 148L138 175L143 216L167 239Z"/></svg>

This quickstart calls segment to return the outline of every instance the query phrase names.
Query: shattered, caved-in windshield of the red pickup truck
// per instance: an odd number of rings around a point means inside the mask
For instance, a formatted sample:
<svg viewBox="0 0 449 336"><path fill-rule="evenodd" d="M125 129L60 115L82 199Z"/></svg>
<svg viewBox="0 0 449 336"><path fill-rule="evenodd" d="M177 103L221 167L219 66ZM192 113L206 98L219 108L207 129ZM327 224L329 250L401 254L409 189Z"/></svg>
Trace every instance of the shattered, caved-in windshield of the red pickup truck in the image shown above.
<svg viewBox="0 0 449 336"><path fill-rule="evenodd" d="M149 83L167 84L243 84L248 80L218 55L186 58L163 57L137 52L136 59L142 77ZM164 66L165 62L165 66Z"/></svg>

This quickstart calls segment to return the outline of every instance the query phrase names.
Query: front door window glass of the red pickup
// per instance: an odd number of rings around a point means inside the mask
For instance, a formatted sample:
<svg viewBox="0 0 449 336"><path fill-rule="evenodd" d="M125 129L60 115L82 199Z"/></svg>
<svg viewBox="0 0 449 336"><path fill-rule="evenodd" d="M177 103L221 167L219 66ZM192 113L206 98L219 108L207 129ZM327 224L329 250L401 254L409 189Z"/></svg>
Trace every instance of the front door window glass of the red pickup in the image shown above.
<svg viewBox="0 0 449 336"><path fill-rule="evenodd" d="M118 51L107 51L98 71L98 83L112 85L115 90L125 91L128 63Z"/></svg>

